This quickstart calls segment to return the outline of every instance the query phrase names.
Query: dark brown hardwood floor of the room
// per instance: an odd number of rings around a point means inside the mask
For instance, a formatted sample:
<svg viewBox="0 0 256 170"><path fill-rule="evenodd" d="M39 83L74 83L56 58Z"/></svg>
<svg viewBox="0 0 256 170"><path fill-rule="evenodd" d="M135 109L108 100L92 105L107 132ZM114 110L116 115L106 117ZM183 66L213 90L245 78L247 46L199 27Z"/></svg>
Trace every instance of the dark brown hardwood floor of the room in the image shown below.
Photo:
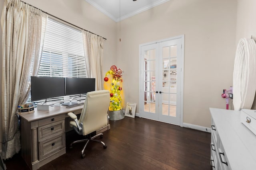
<svg viewBox="0 0 256 170"><path fill-rule="evenodd" d="M66 154L40 170L211 170L210 133L139 117L110 121L110 128L102 139L107 149L91 142L84 159L84 143L68 147L79 135L66 133ZM29 170L20 154L5 164L7 170Z"/></svg>

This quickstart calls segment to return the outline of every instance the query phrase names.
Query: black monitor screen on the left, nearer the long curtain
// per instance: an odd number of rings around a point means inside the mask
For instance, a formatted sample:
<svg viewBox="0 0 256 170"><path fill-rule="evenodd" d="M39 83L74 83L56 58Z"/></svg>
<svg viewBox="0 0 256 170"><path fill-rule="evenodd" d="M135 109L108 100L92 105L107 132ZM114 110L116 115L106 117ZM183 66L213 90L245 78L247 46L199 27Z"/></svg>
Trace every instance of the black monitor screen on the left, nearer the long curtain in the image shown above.
<svg viewBox="0 0 256 170"><path fill-rule="evenodd" d="M31 76L31 101L65 96L64 77Z"/></svg>

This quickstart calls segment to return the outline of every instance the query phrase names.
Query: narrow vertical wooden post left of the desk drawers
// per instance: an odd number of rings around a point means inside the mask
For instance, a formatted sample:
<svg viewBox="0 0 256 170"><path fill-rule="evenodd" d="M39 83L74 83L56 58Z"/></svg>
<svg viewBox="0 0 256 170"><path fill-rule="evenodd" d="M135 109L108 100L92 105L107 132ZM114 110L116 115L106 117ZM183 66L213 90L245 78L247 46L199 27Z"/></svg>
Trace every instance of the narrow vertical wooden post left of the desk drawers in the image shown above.
<svg viewBox="0 0 256 170"><path fill-rule="evenodd" d="M38 135L37 128L31 129L31 162L35 163L38 161Z"/></svg>

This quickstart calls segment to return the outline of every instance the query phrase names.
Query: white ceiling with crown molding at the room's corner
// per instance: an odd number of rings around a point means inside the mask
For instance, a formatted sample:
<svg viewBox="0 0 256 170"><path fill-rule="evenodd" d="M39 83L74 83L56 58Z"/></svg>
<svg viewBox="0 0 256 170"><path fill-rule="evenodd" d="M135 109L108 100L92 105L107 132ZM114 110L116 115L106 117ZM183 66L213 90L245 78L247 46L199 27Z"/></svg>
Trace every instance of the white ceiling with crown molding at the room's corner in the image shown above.
<svg viewBox="0 0 256 170"><path fill-rule="evenodd" d="M103 14L118 22L169 0L85 0ZM119 3L120 2L120 3ZM119 10L121 9L121 10ZM121 16L121 17L120 17Z"/></svg>

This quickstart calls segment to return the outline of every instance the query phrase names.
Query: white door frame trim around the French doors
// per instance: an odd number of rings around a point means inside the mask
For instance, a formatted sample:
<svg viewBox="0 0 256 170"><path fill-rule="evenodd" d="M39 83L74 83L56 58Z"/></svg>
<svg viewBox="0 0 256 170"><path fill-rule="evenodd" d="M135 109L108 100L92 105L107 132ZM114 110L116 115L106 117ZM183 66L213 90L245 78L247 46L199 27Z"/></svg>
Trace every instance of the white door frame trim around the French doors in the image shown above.
<svg viewBox="0 0 256 170"><path fill-rule="evenodd" d="M183 96L184 96L184 34L183 35L178 35L178 36L175 36L175 37L170 37L170 38L167 38L167 39L161 39L159 41L153 41L153 42L150 42L150 43L144 43L144 44L140 44L139 45L139 114L140 112L142 111L143 108L140 108L141 106L143 106L144 104L144 101L140 100L140 94L142 93L142 91L144 91L143 89L140 89L140 87L142 87L142 78L144 77L143 76L143 72L141 71L141 66L142 66L142 60L141 60L141 54L142 54L142 51L141 51L141 47L144 46L144 45L151 45L151 44L155 44L155 43L161 43L161 42L164 42L164 41L170 41L170 40L174 40L174 39L181 39L181 57L182 57L182 65L181 65L181 87L180 87L180 126L183 127ZM140 117L140 115L139 115Z"/></svg>

